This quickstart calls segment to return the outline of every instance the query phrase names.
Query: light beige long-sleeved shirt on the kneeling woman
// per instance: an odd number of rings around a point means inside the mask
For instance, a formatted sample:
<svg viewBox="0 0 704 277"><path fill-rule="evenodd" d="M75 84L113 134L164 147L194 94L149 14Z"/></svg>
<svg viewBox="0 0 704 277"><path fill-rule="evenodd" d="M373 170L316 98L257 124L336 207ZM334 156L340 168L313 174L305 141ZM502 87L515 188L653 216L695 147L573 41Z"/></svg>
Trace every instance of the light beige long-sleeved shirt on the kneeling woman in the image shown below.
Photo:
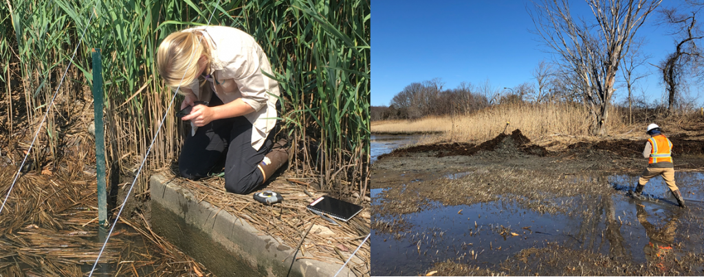
<svg viewBox="0 0 704 277"><path fill-rule="evenodd" d="M198 79L187 88L191 88L201 101L210 101L212 90L223 103L241 98L249 104L254 112L244 117L253 126L252 147L260 149L276 125L276 102L281 95L279 83L262 73L274 76L266 54L252 36L232 27L195 27L182 32L203 34L212 55L210 76L215 77L208 78L210 90L201 91Z"/></svg>

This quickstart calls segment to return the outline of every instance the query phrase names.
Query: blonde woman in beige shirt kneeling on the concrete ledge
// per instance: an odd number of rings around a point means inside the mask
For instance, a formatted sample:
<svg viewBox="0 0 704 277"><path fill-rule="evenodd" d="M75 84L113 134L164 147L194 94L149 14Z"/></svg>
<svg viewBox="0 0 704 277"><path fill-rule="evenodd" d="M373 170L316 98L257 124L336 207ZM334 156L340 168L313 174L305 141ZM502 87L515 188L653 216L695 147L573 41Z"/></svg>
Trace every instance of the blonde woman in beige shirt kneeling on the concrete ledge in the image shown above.
<svg viewBox="0 0 704 277"><path fill-rule="evenodd" d="M182 118L192 127L179 157L183 177L206 177L225 155L225 189L249 194L288 161L272 143L279 83L262 73L272 69L252 36L232 27L185 29L164 39L156 62L166 84L180 86L181 109L193 106Z"/></svg>

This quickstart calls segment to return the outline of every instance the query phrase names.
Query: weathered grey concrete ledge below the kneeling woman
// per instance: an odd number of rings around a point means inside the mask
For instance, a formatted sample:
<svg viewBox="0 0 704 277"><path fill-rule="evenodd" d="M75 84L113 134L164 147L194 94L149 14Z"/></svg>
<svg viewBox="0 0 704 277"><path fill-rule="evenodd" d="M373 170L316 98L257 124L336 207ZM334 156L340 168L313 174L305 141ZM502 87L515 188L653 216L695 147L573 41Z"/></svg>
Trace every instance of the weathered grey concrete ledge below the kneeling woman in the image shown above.
<svg viewBox="0 0 704 277"><path fill-rule="evenodd" d="M153 175L150 185L153 229L218 276L322 277L334 276L341 266L299 259L289 272L294 249L280 240L206 201L198 203L162 175ZM354 274L345 268L339 276Z"/></svg>

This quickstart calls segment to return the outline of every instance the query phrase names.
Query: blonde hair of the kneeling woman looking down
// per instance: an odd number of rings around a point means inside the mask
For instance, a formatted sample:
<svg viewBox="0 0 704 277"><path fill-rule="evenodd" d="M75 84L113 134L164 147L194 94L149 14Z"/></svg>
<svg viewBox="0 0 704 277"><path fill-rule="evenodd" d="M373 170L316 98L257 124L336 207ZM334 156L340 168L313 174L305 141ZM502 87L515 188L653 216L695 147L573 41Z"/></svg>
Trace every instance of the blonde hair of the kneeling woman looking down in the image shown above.
<svg viewBox="0 0 704 277"><path fill-rule="evenodd" d="M183 86L198 79L196 74L199 73L201 55L210 62L210 51L201 37L193 32L174 32L161 41L156 53L156 67L168 86Z"/></svg>

